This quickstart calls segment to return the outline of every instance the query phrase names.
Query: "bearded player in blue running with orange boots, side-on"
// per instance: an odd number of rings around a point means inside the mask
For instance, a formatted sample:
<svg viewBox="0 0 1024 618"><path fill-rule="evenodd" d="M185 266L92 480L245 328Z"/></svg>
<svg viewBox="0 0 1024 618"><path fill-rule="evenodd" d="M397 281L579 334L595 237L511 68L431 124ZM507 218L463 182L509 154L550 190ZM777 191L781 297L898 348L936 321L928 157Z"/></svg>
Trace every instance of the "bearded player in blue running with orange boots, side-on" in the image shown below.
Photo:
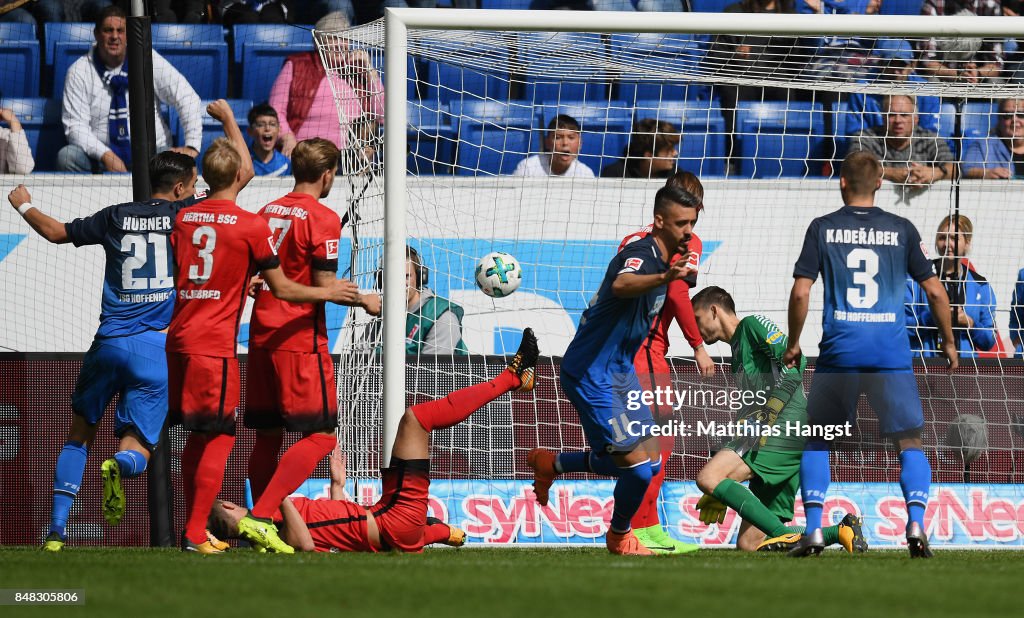
<svg viewBox="0 0 1024 618"><path fill-rule="evenodd" d="M662 310L668 283L692 272L688 259L671 266L669 260L679 251L686 253L699 207L699 200L675 186L657 191L650 235L627 245L608 264L562 357L562 390L580 414L592 450L556 455L535 448L527 455L542 505L548 503L548 490L558 474L617 478L606 537L612 554L653 555L630 529L651 476L662 466L658 441L650 431L650 407L630 403L642 391L633 358Z"/></svg>

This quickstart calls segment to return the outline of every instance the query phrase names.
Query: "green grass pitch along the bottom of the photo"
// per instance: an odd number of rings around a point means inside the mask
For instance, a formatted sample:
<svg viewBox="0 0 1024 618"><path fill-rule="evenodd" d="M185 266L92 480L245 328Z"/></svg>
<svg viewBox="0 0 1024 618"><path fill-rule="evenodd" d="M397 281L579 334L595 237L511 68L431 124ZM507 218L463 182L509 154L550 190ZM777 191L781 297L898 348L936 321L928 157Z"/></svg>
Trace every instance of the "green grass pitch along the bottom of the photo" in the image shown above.
<svg viewBox="0 0 1024 618"><path fill-rule="evenodd" d="M765 618L1019 616L1018 551L848 556L705 550L620 558L603 549L435 549L423 555L223 556L174 549L0 548L0 588L82 588L84 607L2 616L515 616ZM877 613L878 612L878 613Z"/></svg>

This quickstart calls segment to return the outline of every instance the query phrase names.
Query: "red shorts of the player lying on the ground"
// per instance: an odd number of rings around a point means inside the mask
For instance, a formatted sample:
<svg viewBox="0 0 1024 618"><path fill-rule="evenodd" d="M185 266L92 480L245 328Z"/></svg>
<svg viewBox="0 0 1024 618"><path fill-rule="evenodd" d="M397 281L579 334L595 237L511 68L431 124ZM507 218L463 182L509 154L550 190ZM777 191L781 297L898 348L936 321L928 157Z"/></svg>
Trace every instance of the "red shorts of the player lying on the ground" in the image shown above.
<svg viewBox="0 0 1024 618"><path fill-rule="evenodd" d="M384 549L420 551L427 525L427 495L430 462L427 459L391 458L391 467L381 471L381 499L370 507Z"/></svg>

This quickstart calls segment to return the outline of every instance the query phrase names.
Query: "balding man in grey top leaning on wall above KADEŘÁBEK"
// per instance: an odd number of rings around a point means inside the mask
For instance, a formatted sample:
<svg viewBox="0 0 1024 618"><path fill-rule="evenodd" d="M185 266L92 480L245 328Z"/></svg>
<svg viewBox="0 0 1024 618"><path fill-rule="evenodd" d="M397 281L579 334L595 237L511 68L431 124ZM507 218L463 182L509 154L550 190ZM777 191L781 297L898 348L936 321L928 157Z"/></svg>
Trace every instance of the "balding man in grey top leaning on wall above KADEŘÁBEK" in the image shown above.
<svg viewBox="0 0 1024 618"><path fill-rule="evenodd" d="M918 126L912 96L895 94L882 99L886 124L871 127L850 140L850 152L867 150L882 162L886 180L914 190L952 178L953 154L946 140Z"/></svg>

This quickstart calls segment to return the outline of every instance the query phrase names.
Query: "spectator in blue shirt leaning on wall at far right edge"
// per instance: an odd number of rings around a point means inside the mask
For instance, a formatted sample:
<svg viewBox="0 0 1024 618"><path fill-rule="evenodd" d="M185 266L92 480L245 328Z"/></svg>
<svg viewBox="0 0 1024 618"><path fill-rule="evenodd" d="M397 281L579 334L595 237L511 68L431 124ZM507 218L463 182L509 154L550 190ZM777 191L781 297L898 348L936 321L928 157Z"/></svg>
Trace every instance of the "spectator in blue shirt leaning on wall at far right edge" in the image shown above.
<svg viewBox="0 0 1024 618"><path fill-rule="evenodd" d="M992 132L968 140L963 169L965 178L1024 176L1024 99L999 101L999 116Z"/></svg>

